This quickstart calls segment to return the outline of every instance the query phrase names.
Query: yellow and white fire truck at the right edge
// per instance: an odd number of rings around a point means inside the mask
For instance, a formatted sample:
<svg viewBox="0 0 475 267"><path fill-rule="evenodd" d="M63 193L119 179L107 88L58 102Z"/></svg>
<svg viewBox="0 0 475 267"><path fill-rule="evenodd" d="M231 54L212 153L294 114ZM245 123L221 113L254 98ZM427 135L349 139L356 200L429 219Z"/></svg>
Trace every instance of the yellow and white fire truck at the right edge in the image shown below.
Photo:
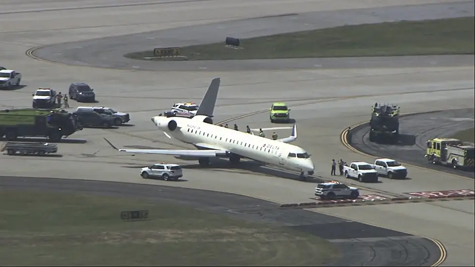
<svg viewBox="0 0 475 267"><path fill-rule="evenodd" d="M432 164L449 165L453 168L473 168L475 146L463 144L454 138L433 138L427 140L427 150L424 155Z"/></svg>

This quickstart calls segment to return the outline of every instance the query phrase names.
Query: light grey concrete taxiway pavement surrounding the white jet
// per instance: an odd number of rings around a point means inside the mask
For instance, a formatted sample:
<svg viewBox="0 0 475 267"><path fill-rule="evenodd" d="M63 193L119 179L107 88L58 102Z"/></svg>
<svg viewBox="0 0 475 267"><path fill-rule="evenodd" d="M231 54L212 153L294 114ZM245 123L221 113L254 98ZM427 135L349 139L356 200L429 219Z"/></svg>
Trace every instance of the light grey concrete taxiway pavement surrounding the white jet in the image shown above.
<svg viewBox="0 0 475 267"><path fill-rule="evenodd" d="M396 102L401 105L404 113L453 109L454 107L473 108L473 55L407 58L399 59L402 62L400 64L386 63L387 65L381 59L374 59L374 62L378 62L377 64L359 65L358 59L340 59L339 62L329 60L320 64L323 65L322 67L314 66L308 69L276 69L274 67L273 70L265 70L262 67L248 66L248 70L243 67L241 71L236 72L227 71L224 67L196 72L169 71L163 68L160 71L148 71L137 70L137 68L118 70L65 66L33 60L25 55L25 51L36 46L171 28L177 39L183 41L186 37L181 37L183 35L179 27L190 25L231 19L240 19L241 22L238 23L242 25L243 19L252 17L439 2L443 5L460 5L458 1L449 0L355 0L350 2L296 0L291 3L277 0L160 3L149 0L143 1L142 5L134 6L125 4L125 1L108 0L68 1L67 4L51 1L41 3L41 5L31 0L7 1L2 3L3 13L0 16L0 21L9 25L8 28L0 31L1 65L20 71L23 74L24 86L17 90L1 91L1 108L30 106L31 93L37 87L51 86L58 91L66 92L69 83L85 81L95 88L97 99L100 101L97 105L111 106L120 111L130 112L131 123L134 126L124 126L108 131L85 129L71 135L69 137L71 140L59 144L59 152L62 154L60 157L0 155L1 174L167 184L251 195L282 203L308 201L310 197L313 197L315 184L289 179L293 176L286 173L255 165L249 166L249 164L246 164L243 169L229 170L225 168L227 166L224 162L219 163L221 168L218 169L199 169L196 162L178 161L156 155L122 154L112 150L102 138L106 137L116 146L124 147L183 146L157 132L150 123L150 117L170 108L174 101L199 101L211 79L221 77L222 86L218 106L215 109L217 114L215 121L264 110L269 108L271 102L275 100L286 101L292 108L292 118L297 121L299 139L295 144L304 147L312 155L317 167L316 180L332 178L341 180L340 177L329 175L329 162L332 158L343 158L345 161L374 160L374 158L348 150L341 144L339 136L349 125L368 120L370 107L374 102ZM468 3L473 5L473 1ZM421 8L423 7L419 7ZM433 10L434 6L430 8ZM409 10L410 7L403 9ZM468 10L473 12L473 8ZM441 9L439 13L441 17L445 12L450 11ZM448 16L453 17L450 14ZM331 18L334 19L334 17ZM350 18L344 18L345 21L348 19ZM232 24L228 25L232 28ZM286 26L275 28L286 28ZM187 31L189 29L185 29L184 33L187 34ZM246 31L252 32L253 29ZM213 32L209 31L209 34L212 35ZM213 41L213 38L224 37L223 35L209 38ZM129 40L135 41L134 38L129 38ZM114 43L109 43L111 50L114 50L113 47ZM120 47L120 49L126 48L126 46ZM151 48L153 47L154 45ZM106 51L90 50L95 53L95 56L90 56L86 55L84 50L87 50L87 47L79 48L78 45L76 48L78 53L83 53L77 58L79 61L86 56L103 59L102 55L107 54ZM61 51L50 50L50 52L60 53ZM61 59L60 54L51 55L50 58L52 56ZM422 63L418 63L419 60ZM136 61L137 65L142 63L142 61ZM315 65L318 65L317 63ZM76 64L84 65L84 62ZM305 67L305 64L302 66ZM73 108L78 105L90 105L74 101L70 101L70 104ZM283 126L271 124L269 115L265 112L229 121L229 123L235 122L242 129L246 124L251 128ZM279 136L289 134L289 130L286 129L276 131ZM186 167L185 181L165 183L144 181L139 178L138 167L157 161L183 164ZM382 179L382 183L378 184L361 185L357 182L356 184L364 187L363 194L373 192L381 195L399 195L405 192L428 190L474 189L473 180L450 173L420 167L409 167L409 173L411 180ZM18 183L21 181L21 178L17 179ZM29 183L33 183L32 180L27 180L26 184ZM24 186L25 183L19 185ZM437 205L420 203L341 207L327 208L318 212L433 237L441 241L448 253L445 254L445 250L442 249L441 260L436 263L440 264L445 260L443 264L447 266L475 264L473 201L454 201ZM401 247L400 250L405 249L407 248ZM395 264L391 261L378 262L378 265Z"/></svg>

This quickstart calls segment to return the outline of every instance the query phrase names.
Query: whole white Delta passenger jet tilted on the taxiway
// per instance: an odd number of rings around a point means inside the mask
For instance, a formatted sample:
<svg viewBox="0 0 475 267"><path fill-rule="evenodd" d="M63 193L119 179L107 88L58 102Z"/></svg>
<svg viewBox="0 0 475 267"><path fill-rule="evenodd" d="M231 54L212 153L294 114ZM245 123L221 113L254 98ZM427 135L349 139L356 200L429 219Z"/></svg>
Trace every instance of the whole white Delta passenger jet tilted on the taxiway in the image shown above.
<svg viewBox="0 0 475 267"><path fill-rule="evenodd" d="M212 108L206 109L212 112L214 102ZM212 116L212 113L208 114ZM315 167L308 153L298 146L288 144L297 139L296 125L293 126L290 136L271 140L214 125L210 116L196 115L192 118L155 116L151 118L158 130L163 131L167 137L174 137L181 142L191 144L197 150L118 149L109 140L104 139L111 147L119 151L197 159L202 167L210 165L210 158L229 158L231 164L239 163L241 158L248 158L299 171L301 178L304 179L305 174L313 175Z"/></svg>

